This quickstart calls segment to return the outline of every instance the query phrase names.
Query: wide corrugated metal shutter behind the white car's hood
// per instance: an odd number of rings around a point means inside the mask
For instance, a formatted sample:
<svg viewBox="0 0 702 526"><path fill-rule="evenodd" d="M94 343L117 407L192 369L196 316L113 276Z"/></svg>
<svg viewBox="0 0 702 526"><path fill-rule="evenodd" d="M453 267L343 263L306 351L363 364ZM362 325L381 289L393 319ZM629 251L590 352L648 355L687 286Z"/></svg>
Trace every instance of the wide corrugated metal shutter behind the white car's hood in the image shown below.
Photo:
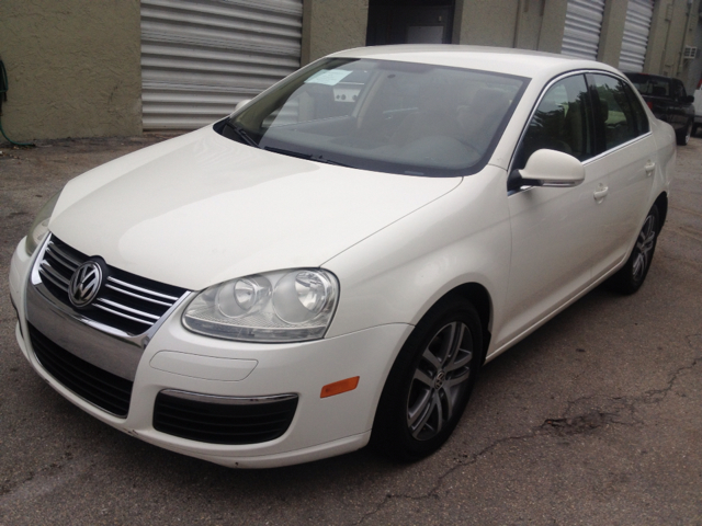
<svg viewBox="0 0 702 526"><path fill-rule="evenodd" d="M191 129L299 68L302 0L141 0L144 129Z"/></svg>

